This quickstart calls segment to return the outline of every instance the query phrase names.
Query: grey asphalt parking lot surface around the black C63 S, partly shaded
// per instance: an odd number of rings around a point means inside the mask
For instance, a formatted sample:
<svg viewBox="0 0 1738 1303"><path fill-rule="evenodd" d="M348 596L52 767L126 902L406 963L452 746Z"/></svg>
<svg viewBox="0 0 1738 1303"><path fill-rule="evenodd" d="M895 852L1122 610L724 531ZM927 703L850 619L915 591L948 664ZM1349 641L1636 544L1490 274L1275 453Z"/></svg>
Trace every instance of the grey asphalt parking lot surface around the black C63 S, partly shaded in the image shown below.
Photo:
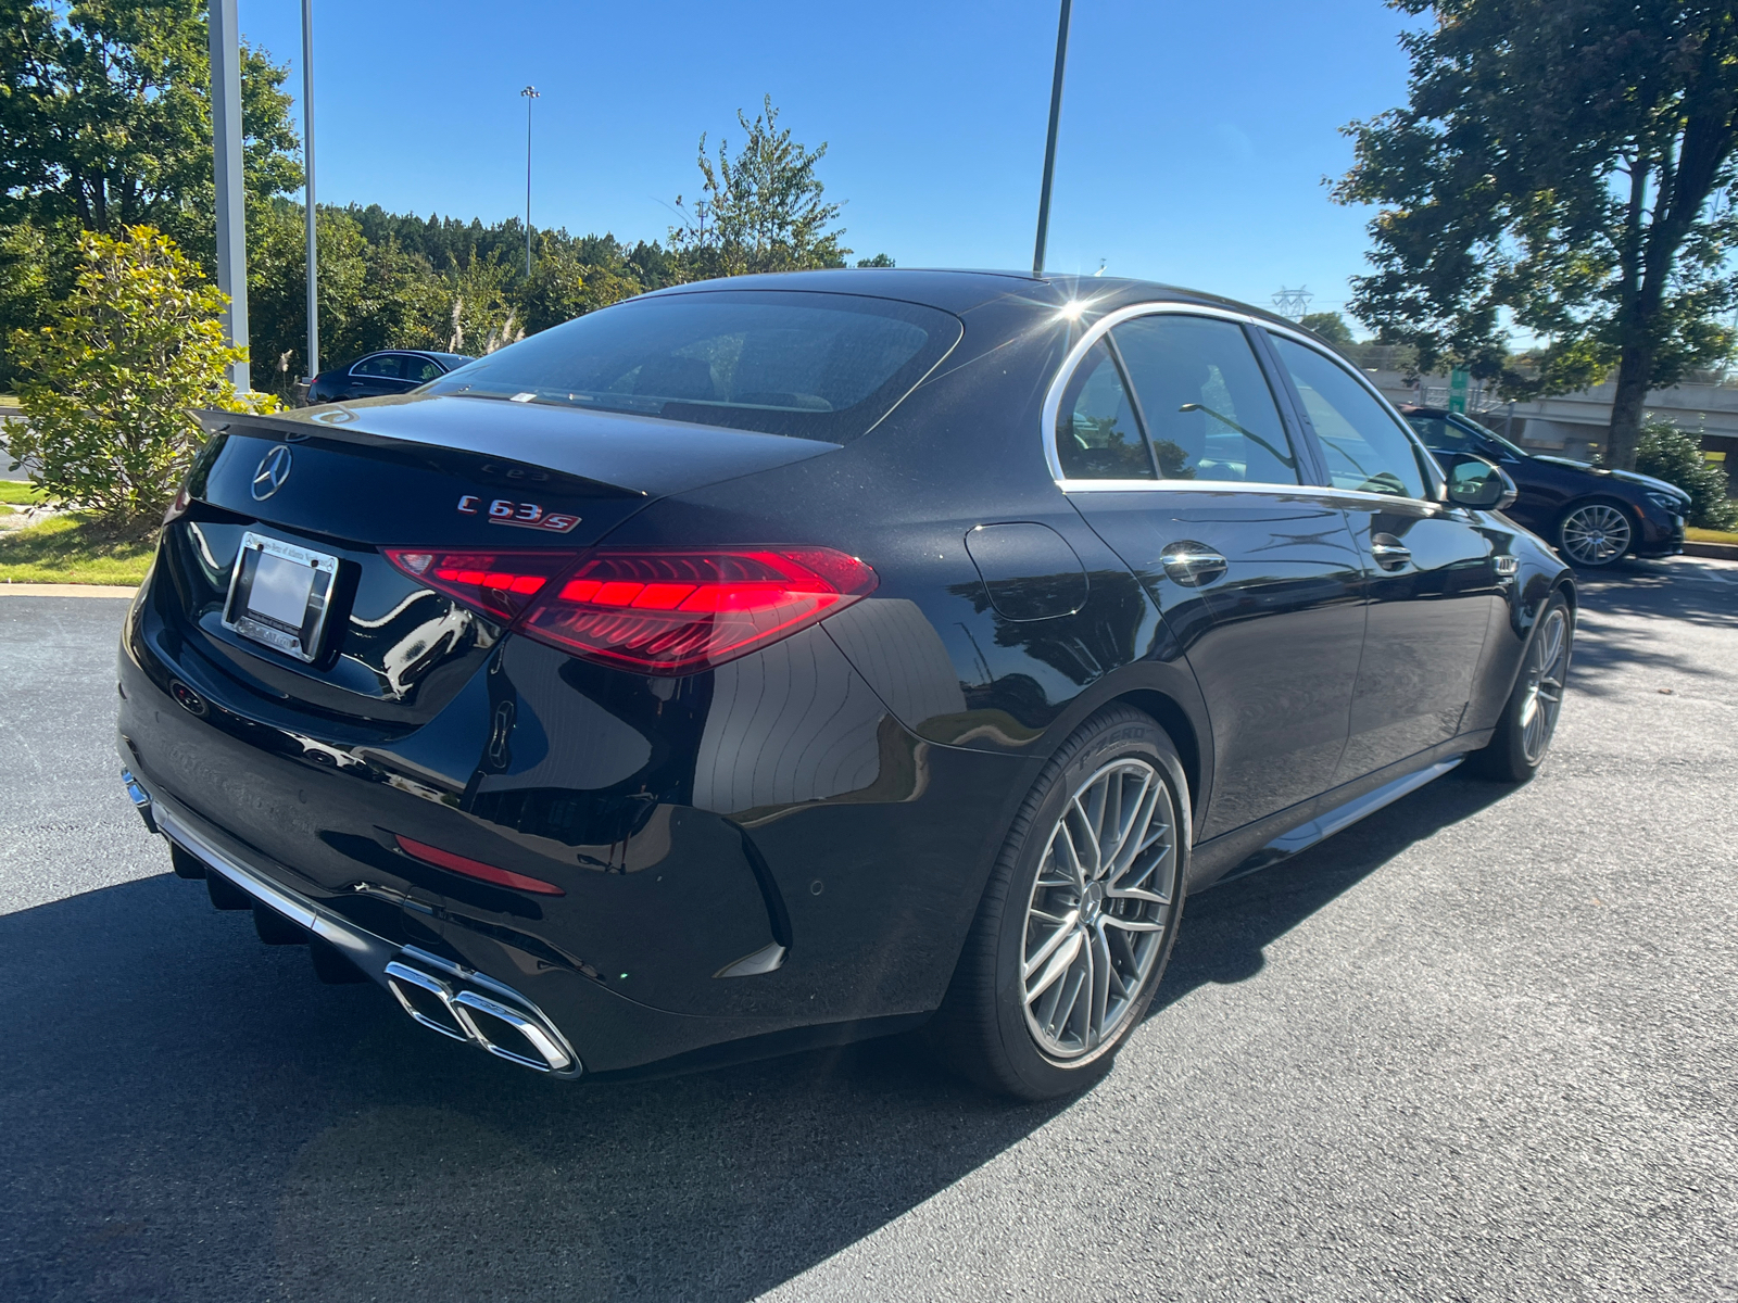
<svg viewBox="0 0 1738 1303"><path fill-rule="evenodd" d="M1189 903L1083 1098L904 1042L560 1086L322 987L0 596L0 1296L1738 1300L1738 565L1583 589L1556 749Z"/></svg>

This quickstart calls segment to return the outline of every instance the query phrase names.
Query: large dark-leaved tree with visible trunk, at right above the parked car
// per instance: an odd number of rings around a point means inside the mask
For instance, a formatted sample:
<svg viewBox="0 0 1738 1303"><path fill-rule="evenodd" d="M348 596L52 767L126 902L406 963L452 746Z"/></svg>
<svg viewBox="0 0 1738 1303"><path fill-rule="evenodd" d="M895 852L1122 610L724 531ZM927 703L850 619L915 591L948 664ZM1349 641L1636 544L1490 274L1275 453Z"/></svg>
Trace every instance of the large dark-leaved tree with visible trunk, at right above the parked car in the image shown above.
<svg viewBox="0 0 1738 1303"><path fill-rule="evenodd" d="M1352 308L1418 363L1458 361L1510 396L1616 370L1609 457L1635 464L1648 389L1728 356L1717 316L1738 142L1738 17L1726 0L1389 0L1406 108L1347 132L1335 196L1378 203ZM1505 318L1545 341L1505 365Z"/></svg>

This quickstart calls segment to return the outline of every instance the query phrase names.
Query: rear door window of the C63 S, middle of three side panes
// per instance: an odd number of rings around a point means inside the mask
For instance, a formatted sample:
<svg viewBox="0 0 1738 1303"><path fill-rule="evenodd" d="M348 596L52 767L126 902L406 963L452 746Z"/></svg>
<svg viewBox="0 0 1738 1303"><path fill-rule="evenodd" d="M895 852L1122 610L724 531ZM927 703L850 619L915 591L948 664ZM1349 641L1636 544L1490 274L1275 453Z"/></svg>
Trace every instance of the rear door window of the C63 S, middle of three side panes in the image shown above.
<svg viewBox="0 0 1738 1303"><path fill-rule="evenodd" d="M1295 485L1298 464L1243 327L1137 316L1111 332L1166 480Z"/></svg>

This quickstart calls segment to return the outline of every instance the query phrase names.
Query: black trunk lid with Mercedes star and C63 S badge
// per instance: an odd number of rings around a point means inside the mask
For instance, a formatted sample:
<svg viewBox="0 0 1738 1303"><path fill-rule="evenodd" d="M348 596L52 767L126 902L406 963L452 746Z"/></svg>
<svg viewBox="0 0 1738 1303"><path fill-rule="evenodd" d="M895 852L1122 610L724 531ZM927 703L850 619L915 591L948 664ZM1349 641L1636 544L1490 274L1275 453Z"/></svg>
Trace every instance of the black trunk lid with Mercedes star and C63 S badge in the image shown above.
<svg viewBox="0 0 1738 1303"><path fill-rule="evenodd" d="M502 620L419 584L382 549L579 552L659 497L838 446L419 394L205 422L212 438L188 478L186 513L163 532L158 603L200 660L255 695L255 718L290 712L332 737L421 728L504 634ZM264 591L276 565L261 540L332 563L313 599L285 598L323 606L304 627L306 658L236 618L236 594Z"/></svg>

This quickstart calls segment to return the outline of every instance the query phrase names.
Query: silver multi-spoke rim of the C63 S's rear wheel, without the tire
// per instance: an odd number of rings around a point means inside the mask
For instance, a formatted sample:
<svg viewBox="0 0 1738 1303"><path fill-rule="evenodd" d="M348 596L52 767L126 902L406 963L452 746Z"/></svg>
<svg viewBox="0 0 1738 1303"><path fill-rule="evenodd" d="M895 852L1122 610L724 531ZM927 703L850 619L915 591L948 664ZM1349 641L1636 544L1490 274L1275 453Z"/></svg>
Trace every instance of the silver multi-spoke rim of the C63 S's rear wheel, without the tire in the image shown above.
<svg viewBox="0 0 1738 1303"><path fill-rule="evenodd" d="M1025 1025L1053 1058L1112 1039L1164 954L1177 811L1144 759L1086 778L1050 832L1025 910Z"/></svg>

